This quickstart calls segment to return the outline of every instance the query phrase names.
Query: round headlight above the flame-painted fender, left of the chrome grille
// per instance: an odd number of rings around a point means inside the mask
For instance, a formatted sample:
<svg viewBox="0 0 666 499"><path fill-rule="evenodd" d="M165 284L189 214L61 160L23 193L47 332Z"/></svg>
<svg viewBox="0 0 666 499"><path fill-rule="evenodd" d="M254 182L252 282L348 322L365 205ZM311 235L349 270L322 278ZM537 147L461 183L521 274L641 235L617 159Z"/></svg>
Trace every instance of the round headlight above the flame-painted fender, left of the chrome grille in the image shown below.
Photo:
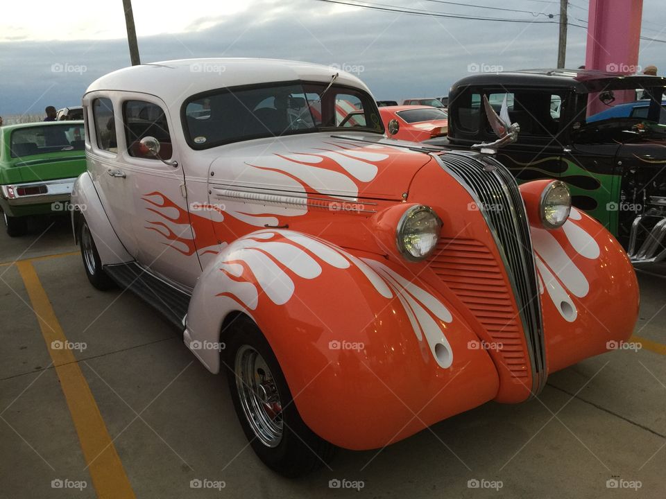
<svg viewBox="0 0 666 499"><path fill-rule="evenodd" d="M418 205L405 211L398 222L398 249L409 261L426 259L434 252L442 220L432 208Z"/></svg>

